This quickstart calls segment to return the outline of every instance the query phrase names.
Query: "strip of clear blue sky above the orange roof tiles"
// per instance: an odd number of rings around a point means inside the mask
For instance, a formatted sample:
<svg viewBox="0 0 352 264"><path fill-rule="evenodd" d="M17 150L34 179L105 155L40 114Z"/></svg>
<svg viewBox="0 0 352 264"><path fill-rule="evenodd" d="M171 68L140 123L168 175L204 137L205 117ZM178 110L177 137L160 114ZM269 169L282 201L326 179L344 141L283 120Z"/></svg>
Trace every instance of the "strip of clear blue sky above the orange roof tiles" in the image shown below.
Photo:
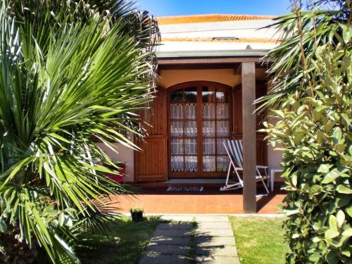
<svg viewBox="0 0 352 264"><path fill-rule="evenodd" d="M209 13L283 15L290 0L137 0L142 9L156 16Z"/></svg>

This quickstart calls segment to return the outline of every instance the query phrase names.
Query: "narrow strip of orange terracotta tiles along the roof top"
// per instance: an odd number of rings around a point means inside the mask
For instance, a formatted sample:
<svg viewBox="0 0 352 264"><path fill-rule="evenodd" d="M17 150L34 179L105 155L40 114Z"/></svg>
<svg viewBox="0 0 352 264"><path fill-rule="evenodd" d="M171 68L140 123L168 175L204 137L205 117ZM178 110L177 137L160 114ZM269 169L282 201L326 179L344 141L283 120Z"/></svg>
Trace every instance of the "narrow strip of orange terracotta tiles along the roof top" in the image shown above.
<svg viewBox="0 0 352 264"><path fill-rule="evenodd" d="M186 23L209 23L209 22L225 22L239 20L262 20L272 19L272 15L180 15L180 16L164 16L158 18L159 25L170 24L186 24Z"/></svg>

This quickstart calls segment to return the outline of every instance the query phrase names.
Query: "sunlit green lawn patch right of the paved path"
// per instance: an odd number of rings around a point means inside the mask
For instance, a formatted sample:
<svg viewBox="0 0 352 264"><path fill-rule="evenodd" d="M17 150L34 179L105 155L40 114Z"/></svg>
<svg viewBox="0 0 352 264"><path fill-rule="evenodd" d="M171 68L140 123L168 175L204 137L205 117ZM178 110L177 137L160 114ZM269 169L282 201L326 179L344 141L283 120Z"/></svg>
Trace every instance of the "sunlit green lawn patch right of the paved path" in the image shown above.
<svg viewBox="0 0 352 264"><path fill-rule="evenodd" d="M284 264L289 247L284 243L282 218L230 216L241 264Z"/></svg>

